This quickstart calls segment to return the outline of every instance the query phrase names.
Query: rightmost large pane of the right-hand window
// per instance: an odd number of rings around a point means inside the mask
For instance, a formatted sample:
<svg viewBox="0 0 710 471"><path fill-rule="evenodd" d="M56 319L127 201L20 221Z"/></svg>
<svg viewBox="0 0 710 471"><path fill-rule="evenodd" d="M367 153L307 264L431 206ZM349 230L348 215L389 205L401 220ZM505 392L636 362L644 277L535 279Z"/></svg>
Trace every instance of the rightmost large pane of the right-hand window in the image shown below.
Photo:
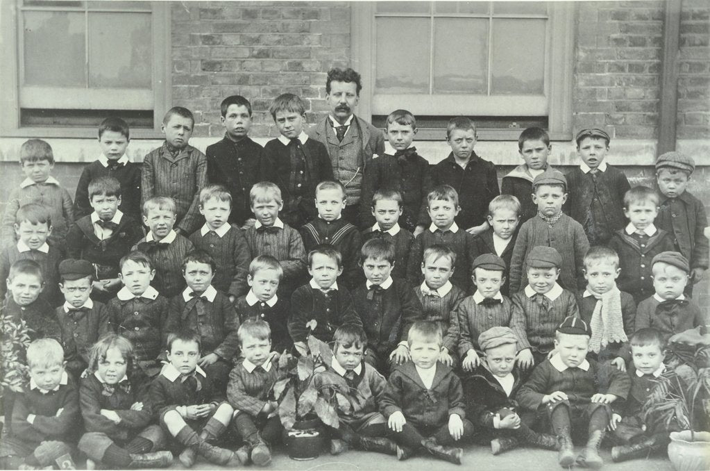
<svg viewBox="0 0 710 471"><path fill-rule="evenodd" d="M542 94L544 19L494 19L491 94Z"/></svg>

